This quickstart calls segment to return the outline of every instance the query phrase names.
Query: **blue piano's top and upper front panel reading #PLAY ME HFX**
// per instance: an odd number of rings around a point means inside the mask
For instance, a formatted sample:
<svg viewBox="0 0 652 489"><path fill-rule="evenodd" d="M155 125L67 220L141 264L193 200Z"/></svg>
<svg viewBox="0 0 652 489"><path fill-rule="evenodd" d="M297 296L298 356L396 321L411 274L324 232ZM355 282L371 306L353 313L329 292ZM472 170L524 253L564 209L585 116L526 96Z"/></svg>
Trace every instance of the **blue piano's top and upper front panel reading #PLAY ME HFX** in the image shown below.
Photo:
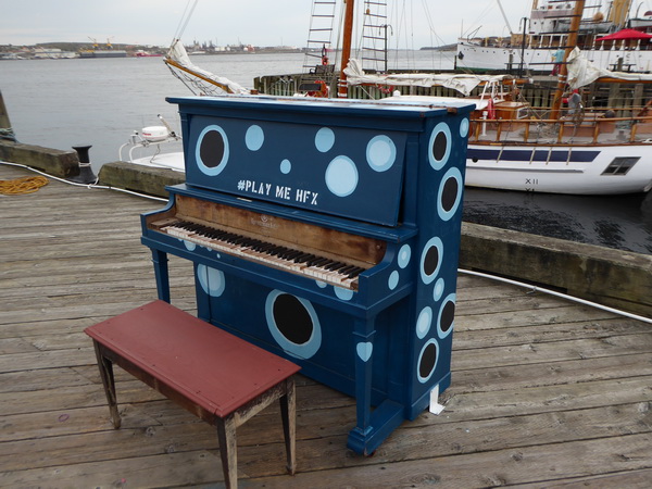
<svg viewBox="0 0 652 489"><path fill-rule="evenodd" d="M179 104L188 185L389 226L399 218L410 136L450 112L431 100L167 100Z"/></svg>

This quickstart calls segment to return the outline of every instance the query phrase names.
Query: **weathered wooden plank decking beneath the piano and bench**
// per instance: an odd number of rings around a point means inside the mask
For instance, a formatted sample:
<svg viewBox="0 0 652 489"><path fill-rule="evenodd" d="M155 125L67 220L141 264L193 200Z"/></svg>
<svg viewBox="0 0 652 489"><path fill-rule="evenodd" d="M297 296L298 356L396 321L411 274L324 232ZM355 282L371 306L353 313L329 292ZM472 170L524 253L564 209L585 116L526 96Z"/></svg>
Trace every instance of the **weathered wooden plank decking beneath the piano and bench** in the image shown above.
<svg viewBox="0 0 652 489"><path fill-rule="evenodd" d="M29 173L0 166L0 179ZM52 181L0 196L0 486L220 487L205 423L117 371L112 428L83 329L155 299L139 214L162 206ZM173 304L193 311L172 258ZM652 325L460 276L453 381L371 457L353 400L299 378L298 474L275 408L238 431L242 487L649 487Z"/></svg>

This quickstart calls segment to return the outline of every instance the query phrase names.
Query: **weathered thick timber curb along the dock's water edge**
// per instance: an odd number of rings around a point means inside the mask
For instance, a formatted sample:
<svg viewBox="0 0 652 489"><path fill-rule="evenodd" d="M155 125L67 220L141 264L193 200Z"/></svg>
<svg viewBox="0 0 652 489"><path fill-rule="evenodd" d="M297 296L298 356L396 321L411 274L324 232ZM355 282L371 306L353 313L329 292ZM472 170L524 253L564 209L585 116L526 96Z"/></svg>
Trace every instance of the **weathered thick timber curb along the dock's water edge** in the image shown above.
<svg viewBox="0 0 652 489"><path fill-rule="evenodd" d="M78 173L75 152L0 141L0 159L54 176ZM99 184L167 197L183 174L126 162L102 166ZM460 267L547 287L652 317L652 255L463 223Z"/></svg>

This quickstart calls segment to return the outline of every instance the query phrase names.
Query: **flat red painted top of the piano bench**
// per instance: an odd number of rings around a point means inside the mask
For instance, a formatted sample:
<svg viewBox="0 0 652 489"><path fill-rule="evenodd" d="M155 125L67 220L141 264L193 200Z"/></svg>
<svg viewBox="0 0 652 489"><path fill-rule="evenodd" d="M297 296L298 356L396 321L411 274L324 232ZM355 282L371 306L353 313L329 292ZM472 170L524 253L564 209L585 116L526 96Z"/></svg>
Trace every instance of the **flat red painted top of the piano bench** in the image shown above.
<svg viewBox="0 0 652 489"><path fill-rule="evenodd" d="M86 333L220 417L300 369L160 300Z"/></svg>

